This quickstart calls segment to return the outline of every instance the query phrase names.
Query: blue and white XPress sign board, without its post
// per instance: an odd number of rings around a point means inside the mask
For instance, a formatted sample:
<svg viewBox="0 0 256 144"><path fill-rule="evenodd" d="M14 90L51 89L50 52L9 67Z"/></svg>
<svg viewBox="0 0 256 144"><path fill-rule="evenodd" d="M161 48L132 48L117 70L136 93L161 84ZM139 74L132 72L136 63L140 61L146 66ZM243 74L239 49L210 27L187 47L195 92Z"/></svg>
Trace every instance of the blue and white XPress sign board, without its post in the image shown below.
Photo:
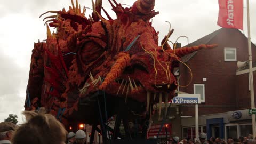
<svg viewBox="0 0 256 144"><path fill-rule="evenodd" d="M175 104L197 104L201 103L200 94L178 94L173 98Z"/></svg>

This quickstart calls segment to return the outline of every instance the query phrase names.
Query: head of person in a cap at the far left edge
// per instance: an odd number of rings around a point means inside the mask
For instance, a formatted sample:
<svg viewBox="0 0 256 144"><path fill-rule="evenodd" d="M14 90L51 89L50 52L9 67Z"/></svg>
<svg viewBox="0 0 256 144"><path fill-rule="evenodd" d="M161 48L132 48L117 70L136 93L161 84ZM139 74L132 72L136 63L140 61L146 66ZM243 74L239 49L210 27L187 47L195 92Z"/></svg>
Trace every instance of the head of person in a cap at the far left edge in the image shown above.
<svg viewBox="0 0 256 144"><path fill-rule="evenodd" d="M0 140L11 140L16 125L12 122L0 123Z"/></svg>

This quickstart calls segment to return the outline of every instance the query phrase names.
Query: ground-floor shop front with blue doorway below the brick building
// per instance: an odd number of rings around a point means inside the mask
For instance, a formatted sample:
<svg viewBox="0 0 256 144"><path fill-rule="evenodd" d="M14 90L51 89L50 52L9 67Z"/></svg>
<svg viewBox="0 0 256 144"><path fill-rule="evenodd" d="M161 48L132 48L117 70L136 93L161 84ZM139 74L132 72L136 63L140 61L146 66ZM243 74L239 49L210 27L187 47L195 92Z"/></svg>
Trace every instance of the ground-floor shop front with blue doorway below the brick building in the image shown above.
<svg viewBox="0 0 256 144"><path fill-rule="evenodd" d="M210 137L220 138L239 138L252 134L251 116L248 110L228 111L199 116L199 133L207 134ZM181 119L182 138L195 138L195 118Z"/></svg>

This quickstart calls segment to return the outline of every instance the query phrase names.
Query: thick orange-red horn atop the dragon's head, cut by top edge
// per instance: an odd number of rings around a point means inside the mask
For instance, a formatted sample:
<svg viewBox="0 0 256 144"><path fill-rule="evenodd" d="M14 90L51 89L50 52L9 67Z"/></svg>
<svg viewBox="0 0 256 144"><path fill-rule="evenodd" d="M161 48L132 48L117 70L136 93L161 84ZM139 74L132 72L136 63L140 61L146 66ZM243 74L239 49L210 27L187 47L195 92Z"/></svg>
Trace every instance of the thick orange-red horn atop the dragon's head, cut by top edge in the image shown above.
<svg viewBox="0 0 256 144"><path fill-rule="evenodd" d="M132 6L132 12L135 14L149 14L155 6L155 0L137 0Z"/></svg>

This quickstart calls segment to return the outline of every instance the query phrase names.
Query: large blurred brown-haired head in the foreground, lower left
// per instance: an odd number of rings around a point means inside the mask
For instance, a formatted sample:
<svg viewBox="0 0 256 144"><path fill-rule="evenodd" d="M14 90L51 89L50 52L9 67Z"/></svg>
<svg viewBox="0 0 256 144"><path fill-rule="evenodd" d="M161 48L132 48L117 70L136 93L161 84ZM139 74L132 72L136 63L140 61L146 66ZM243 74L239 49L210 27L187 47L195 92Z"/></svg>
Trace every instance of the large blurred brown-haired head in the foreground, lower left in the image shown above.
<svg viewBox="0 0 256 144"><path fill-rule="evenodd" d="M63 125L45 110L24 111L27 122L13 134L12 144L63 144L67 131Z"/></svg>

